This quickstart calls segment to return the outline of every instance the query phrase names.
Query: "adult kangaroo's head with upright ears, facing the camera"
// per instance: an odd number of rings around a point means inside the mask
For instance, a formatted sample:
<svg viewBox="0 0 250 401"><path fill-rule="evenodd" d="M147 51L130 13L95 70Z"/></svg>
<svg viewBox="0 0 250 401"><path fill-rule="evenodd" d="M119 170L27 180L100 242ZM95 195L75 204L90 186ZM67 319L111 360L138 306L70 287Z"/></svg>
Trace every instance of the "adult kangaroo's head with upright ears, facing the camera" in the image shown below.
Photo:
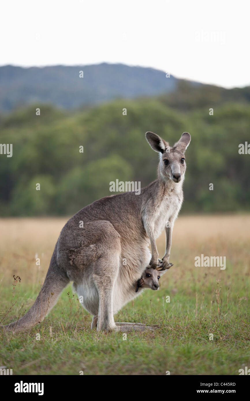
<svg viewBox="0 0 250 401"><path fill-rule="evenodd" d="M168 142L153 132L146 132L146 140L155 152L159 152L158 171L161 177L165 181L180 182L186 171L184 154L191 141L190 134L183 132L181 138L173 147L169 146Z"/></svg>

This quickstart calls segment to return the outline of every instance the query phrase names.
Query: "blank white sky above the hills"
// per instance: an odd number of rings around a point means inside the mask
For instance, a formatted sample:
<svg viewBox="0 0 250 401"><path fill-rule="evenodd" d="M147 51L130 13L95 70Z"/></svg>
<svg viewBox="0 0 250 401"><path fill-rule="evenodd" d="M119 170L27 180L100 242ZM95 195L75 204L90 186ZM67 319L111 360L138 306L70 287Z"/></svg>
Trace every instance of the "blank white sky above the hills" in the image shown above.
<svg viewBox="0 0 250 401"><path fill-rule="evenodd" d="M0 65L102 62L250 85L248 0L5 0Z"/></svg>

